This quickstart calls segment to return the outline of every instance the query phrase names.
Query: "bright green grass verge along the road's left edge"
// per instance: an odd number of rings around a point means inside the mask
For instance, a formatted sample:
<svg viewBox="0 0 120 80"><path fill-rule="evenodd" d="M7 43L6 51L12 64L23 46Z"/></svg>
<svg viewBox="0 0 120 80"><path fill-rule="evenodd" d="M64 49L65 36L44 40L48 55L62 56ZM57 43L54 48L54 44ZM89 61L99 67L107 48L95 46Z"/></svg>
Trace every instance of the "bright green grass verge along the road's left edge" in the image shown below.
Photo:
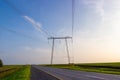
<svg viewBox="0 0 120 80"><path fill-rule="evenodd" d="M14 66L15 67L15 66ZM19 66L14 72L7 71L5 76L2 76L0 80L30 80L30 66ZM2 73L3 74L3 73Z"/></svg>

